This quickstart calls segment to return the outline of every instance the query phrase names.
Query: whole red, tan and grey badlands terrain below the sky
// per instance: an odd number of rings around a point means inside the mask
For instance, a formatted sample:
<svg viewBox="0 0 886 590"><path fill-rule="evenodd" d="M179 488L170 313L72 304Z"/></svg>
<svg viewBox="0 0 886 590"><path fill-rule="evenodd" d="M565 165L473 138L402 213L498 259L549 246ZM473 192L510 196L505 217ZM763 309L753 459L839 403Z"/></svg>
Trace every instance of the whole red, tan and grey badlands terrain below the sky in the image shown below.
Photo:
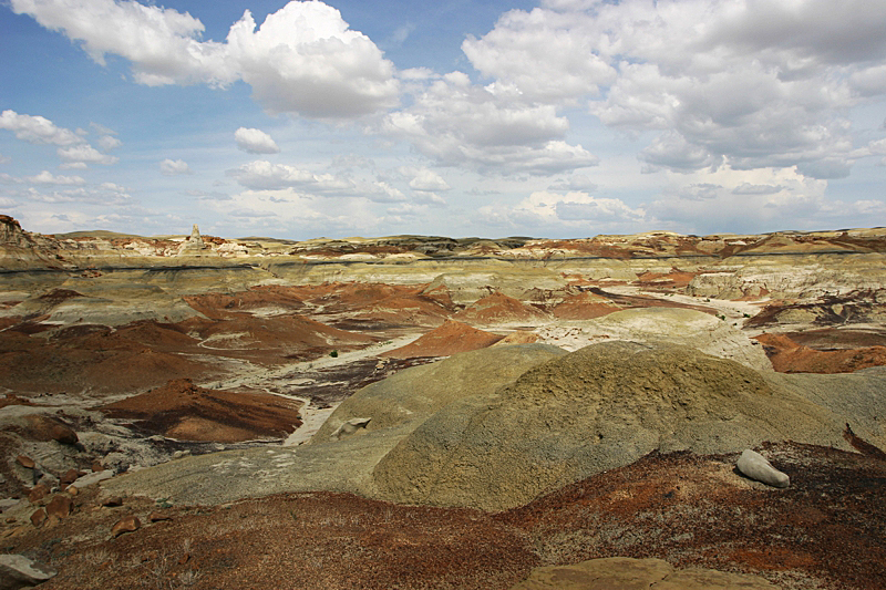
<svg viewBox="0 0 886 590"><path fill-rule="evenodd" d="M0 588L883 589L884 365L882 228L0 216Z"/></svg>

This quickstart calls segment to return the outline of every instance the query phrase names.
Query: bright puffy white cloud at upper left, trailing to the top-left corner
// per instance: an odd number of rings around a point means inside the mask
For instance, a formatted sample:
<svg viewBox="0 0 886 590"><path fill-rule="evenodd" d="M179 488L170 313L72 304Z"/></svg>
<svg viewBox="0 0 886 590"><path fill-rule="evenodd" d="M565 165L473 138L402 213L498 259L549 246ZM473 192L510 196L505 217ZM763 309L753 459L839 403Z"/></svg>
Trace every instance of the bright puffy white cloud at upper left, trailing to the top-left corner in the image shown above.
<svg viewBox="0 0 886 590"><path fill-rule="evenodd" d="M247 10L225 42L203 41L189 13L132 0L10 0L47 29L82 43L100 64L106 54L132 63L151 86L243 80L274 113L354 117L395 106L394 66L332 7L292 1L258 25Z"/></svg>

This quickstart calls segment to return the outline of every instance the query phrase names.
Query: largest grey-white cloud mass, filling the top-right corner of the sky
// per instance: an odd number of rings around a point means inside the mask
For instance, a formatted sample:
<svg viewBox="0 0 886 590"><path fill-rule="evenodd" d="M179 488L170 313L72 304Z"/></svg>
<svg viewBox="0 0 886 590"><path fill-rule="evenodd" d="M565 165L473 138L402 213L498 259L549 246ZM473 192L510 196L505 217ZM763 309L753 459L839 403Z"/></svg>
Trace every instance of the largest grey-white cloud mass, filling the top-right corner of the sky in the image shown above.
<svg viewBox="0 0 886 590"><path fill-rule="evenodd" d="M608 126L658 132L647 170L835 178L858 157L847 111L886 94L886 4L547 0L463 50L528 100L584 97Z"/></svg>

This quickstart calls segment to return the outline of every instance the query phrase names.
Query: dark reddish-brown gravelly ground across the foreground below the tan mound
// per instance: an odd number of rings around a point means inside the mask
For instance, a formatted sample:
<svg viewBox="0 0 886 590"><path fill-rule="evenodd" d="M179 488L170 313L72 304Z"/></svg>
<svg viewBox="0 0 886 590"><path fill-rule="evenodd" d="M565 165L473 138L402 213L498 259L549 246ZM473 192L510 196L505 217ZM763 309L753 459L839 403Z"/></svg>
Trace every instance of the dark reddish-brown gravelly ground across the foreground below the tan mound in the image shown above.
<svg viewBox="0 0 886 590"><path fill-rule="evenodd" d="M93 490L69 518L1 542L59 569L44 590L507 589L537 566L611 556L785 590L882 589L886 462L793 443L762 452L790 488L740 477L734 455L653 454L498 514L311 493L159 508L171 519L150 522L154 501L100 507ZM111 538L132 514L142 528Z"/></svg>

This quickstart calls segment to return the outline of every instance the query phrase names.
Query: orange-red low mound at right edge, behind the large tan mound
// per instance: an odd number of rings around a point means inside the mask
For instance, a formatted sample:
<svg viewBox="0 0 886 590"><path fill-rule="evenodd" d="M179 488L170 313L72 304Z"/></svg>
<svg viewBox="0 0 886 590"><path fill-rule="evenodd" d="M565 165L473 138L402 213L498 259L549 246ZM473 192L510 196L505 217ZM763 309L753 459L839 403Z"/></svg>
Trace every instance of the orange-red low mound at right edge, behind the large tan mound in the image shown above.
<svg viewBox="0 0 886 590"><path fill-rule="evenodd" d="M886 365L886 346L818 351L779 334L760 334L772 368L782 373L852 373Z"/></svg>

